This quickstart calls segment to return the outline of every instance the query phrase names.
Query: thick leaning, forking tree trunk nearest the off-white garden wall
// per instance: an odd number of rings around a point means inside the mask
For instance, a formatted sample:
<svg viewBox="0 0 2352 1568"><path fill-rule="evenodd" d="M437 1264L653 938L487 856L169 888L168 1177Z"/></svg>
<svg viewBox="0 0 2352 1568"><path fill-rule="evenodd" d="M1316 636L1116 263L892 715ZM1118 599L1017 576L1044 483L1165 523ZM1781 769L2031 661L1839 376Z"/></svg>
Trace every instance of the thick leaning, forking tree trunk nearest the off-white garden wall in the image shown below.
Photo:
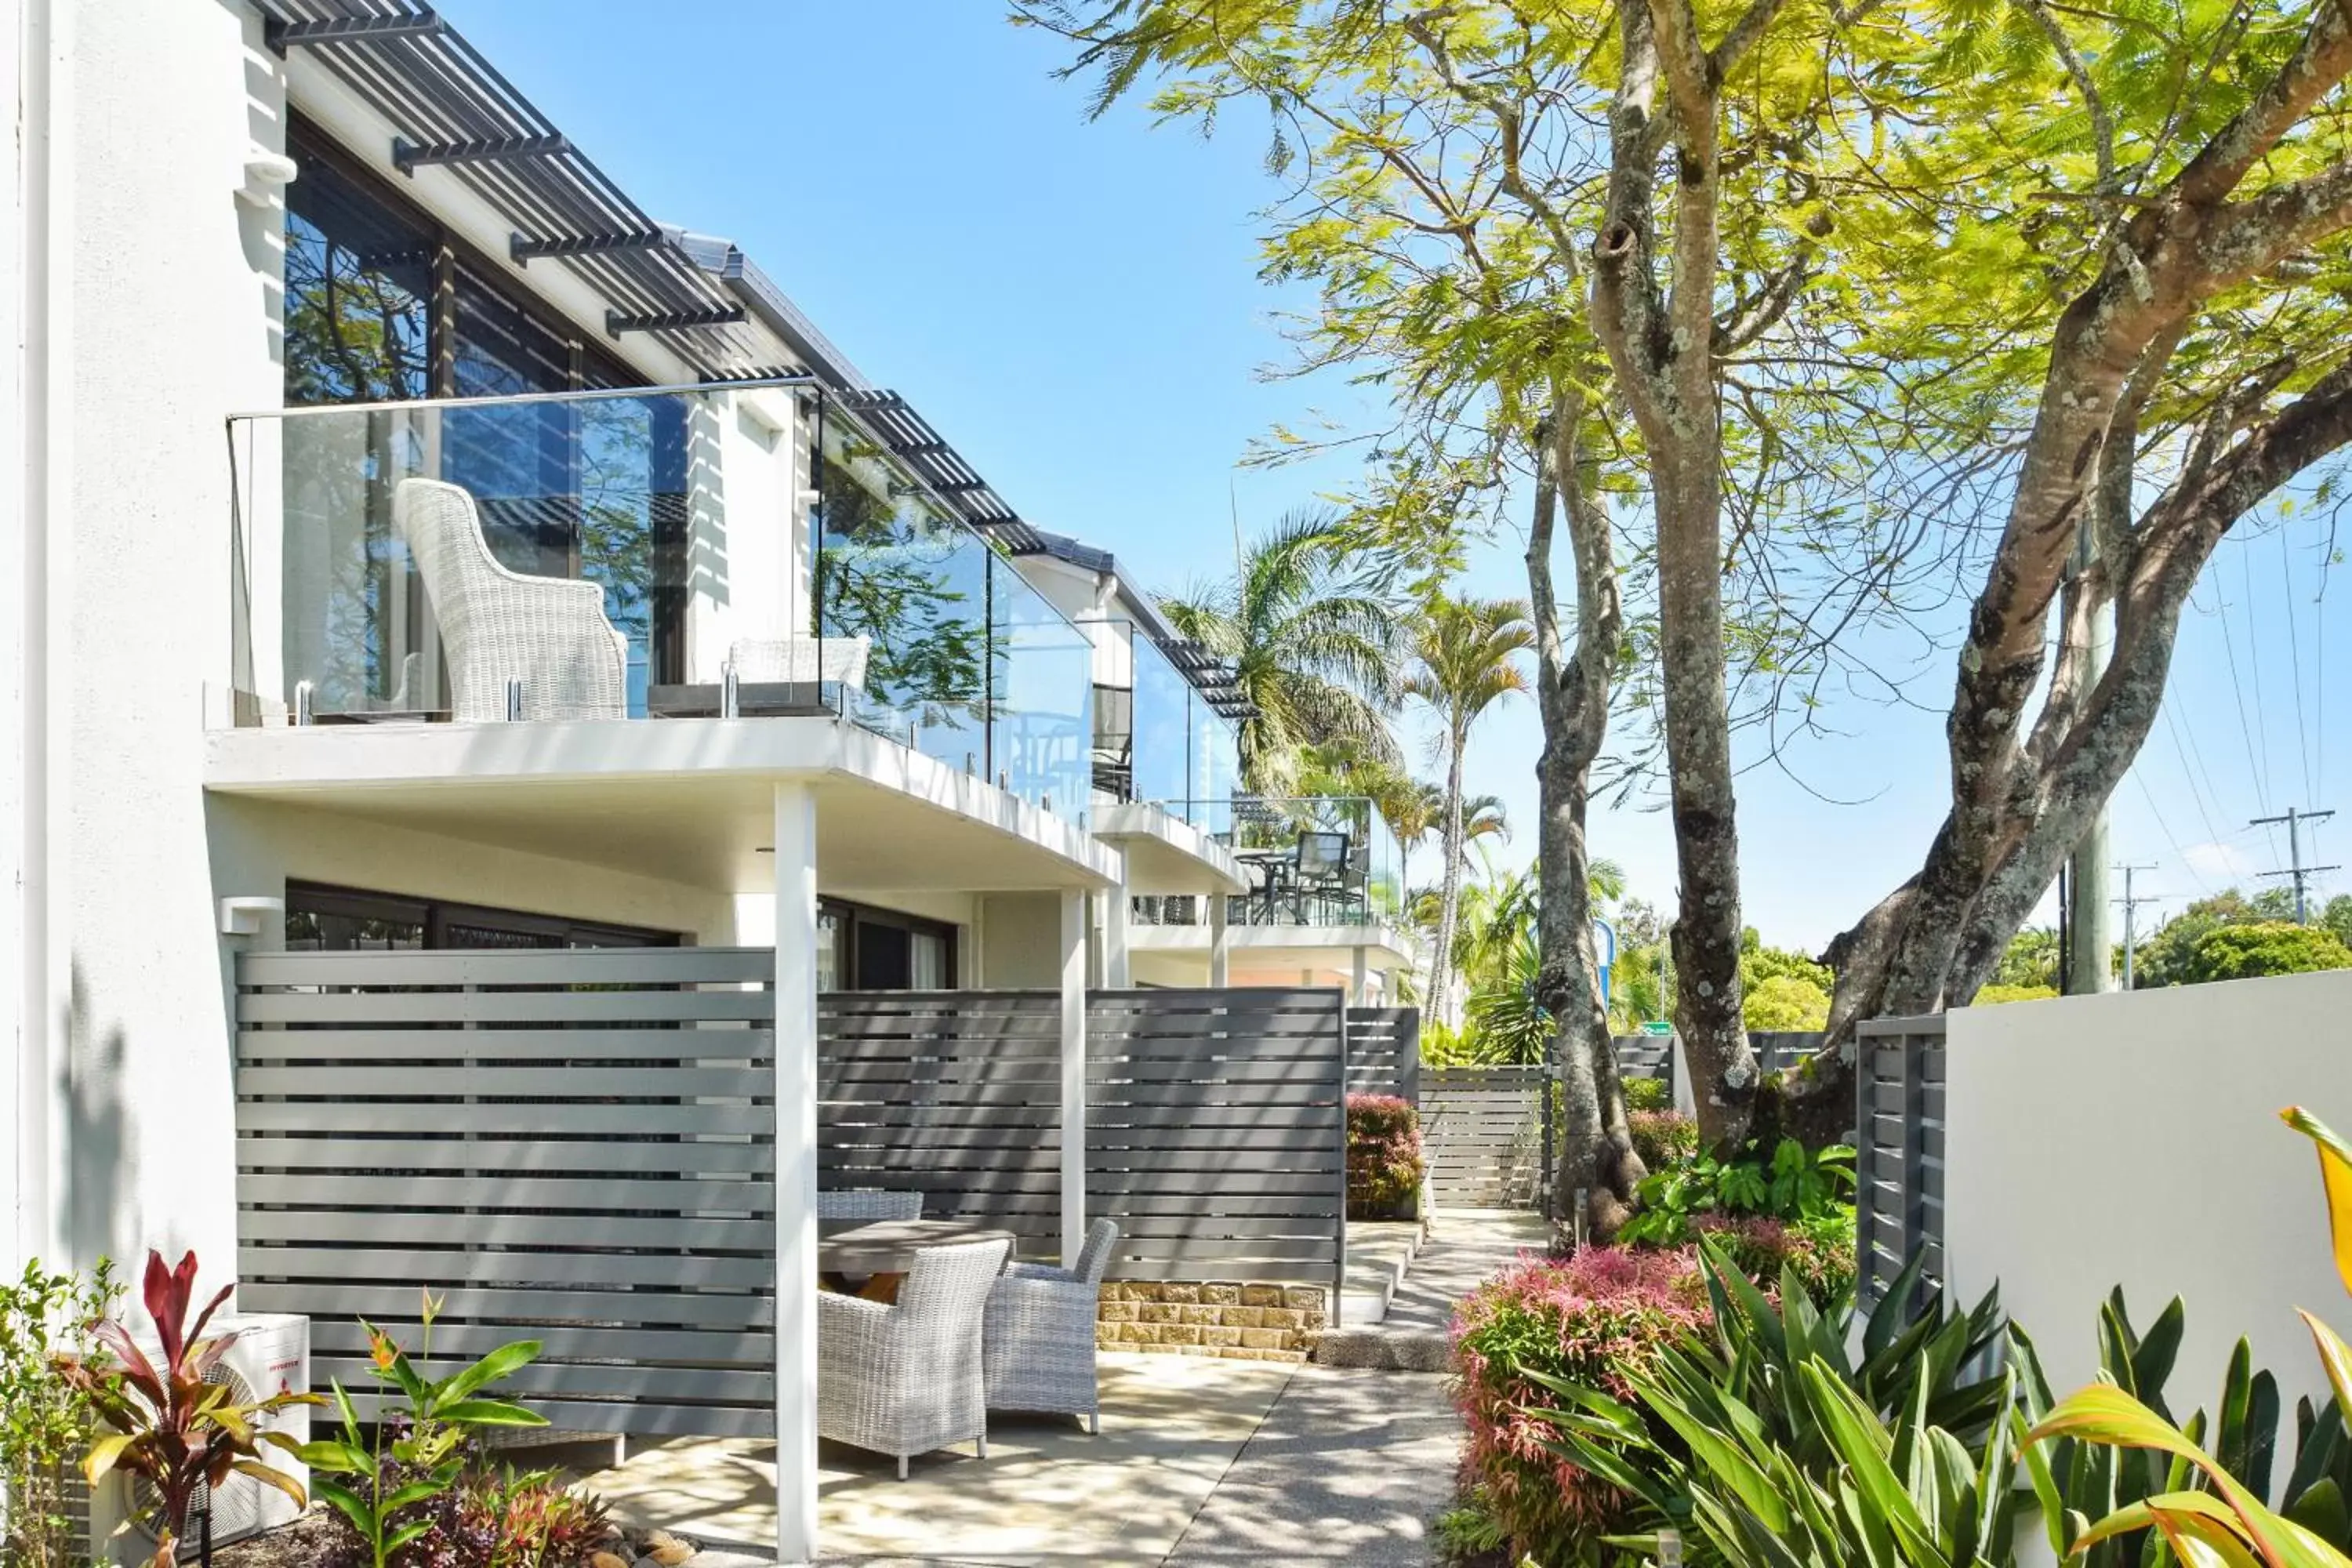
<svg viewBox="0 0 2352 1568"><path fill-rule="evenodd" d="M2296 52L2161 188L2143 193L2100 273L2051 329L2049 371L2009 517L1959 649L1952 809L1919 870L1830 945L1830 1044L1769 1088L1771 1114L1851 1126L1853 1025L1966 1004L2122 783L2164 698L2180 604L2223 534L2352 440L2352 371L2277 414L2291 355L2237 381L2180 386L2173 350L2209 303L2352 226L2352 162L2234 200L2270 150L2352 73L2352 5L2314 7ZM2161 496L2133 515L2140 414L2169 393L2206 414ZM2070 571L2084 527L2091 569ZM2086 658L2114 604L2105 672ZM2060 663L2027 731L2051 611Z"/></svg>

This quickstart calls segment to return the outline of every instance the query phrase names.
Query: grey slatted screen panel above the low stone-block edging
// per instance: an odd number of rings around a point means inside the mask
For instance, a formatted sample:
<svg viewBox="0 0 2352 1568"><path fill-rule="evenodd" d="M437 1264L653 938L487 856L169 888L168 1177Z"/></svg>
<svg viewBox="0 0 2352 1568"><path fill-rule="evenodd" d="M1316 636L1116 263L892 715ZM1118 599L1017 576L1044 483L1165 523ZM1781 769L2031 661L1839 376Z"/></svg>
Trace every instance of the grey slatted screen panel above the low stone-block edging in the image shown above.
<svg viewBox="0 0 2352 1568"><path fill-rule="evenodd" d="M1117 1279L1298 1281L1345 1269L1343 992L1091 992L1087 1213Z"/></svg>

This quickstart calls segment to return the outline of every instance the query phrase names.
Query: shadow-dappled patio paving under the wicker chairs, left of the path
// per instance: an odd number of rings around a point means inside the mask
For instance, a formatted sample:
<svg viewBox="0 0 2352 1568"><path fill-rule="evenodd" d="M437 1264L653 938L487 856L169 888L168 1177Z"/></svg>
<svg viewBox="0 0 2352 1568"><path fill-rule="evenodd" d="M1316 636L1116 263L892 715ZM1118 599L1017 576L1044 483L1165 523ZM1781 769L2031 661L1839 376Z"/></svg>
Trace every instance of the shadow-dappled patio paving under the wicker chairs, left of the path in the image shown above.
<svg viewBox="0 0 2352 1568"><path fill-rule="evenodd" d="M988 1460L969 1446L889 1460L826 1443L818 1540L828 1563L1167 1561L1261 1429L1294 1368L1209 1356L1101 1356L1103 1434L1077 1420L993 1418ZM1451 1460L1437 1467L1451 1476ZM774 1446L668 1441L588 1476L616 1521L706 1547L696 1568L771 1563Z"/></svg>

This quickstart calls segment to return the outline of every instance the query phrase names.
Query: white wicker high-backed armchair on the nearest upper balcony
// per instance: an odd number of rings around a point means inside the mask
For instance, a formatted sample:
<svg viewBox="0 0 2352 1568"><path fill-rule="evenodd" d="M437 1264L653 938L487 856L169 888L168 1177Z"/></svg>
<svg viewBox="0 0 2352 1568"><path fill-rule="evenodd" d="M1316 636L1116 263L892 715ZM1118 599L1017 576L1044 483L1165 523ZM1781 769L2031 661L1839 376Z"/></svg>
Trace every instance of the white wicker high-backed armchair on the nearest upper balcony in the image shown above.
<svg viewBox="0 0 2352 1568"><path fill-rule="evenodd" d="M522 684L524 719L628 717L628 637L597 583L503 567L461 484L402 480L393 527L433 602L459 722L506 719L508 682Z"/></svg>

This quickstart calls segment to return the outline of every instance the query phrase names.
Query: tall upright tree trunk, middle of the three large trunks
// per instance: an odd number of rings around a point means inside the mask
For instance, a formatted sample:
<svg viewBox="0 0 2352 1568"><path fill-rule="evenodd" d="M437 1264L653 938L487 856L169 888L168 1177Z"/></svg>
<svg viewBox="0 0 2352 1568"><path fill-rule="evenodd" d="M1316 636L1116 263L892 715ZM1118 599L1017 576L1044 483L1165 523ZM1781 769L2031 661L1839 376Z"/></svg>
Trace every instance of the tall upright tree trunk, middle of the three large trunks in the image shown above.
<svg viewBox="0 0 2352 1568"><path fill-rule="evenodd" d="M1675 860L1675 1027L1710 1145L1738 1143L1757 1065L1740 1018L1740 867L1724 665L1724 437L1715 367L1717 87L1769 26L1757 5L1715 52L1691 0L1618 0L1609 207L1592 247L1592 324L1651 463ZM1656 103L1658 87L1670 110ZM1658 277L1658 160L1675 153L1672 282Z"/></svg>

